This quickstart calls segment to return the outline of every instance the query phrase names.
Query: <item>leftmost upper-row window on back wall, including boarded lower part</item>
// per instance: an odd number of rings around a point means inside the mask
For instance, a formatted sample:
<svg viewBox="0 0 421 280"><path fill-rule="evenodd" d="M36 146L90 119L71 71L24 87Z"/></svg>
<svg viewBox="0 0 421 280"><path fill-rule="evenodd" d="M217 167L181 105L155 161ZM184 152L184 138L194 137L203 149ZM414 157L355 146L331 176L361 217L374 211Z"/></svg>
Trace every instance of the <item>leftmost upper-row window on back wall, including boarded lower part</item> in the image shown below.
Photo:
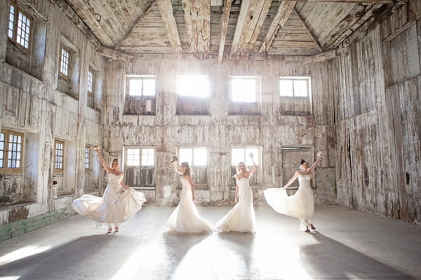
<svg viewBox="0 0 421 280"><path fill-rule="evenodd" d="M126 76L126 114L155 115L156 76Z"/></svg>

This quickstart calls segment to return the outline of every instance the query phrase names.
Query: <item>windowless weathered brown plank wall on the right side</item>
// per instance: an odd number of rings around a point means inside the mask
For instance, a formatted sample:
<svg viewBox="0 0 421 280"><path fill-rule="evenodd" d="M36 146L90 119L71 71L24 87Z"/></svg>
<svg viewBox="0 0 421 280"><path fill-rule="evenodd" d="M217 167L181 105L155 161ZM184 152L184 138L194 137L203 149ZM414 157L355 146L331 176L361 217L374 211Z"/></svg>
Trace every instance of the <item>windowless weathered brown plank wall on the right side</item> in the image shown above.
<svg viewBox="0 0 421 280"><path fill-rule="evenodd" d="M338 203L421 221L420 1L332 61Z"/></svg>

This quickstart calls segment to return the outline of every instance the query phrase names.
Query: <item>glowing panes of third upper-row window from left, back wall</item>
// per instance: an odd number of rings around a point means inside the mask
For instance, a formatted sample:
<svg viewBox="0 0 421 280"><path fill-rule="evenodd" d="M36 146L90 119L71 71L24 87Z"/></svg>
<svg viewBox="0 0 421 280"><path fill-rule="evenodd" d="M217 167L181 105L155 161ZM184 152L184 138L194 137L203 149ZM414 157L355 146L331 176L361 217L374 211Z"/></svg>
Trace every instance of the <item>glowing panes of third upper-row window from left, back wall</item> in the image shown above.
<svg viewBox="0 0 421 280"><path fill-rule="evenodd" d="M230 80L232 102L257 102L259 85L257 77L232 77Z"/></svg>

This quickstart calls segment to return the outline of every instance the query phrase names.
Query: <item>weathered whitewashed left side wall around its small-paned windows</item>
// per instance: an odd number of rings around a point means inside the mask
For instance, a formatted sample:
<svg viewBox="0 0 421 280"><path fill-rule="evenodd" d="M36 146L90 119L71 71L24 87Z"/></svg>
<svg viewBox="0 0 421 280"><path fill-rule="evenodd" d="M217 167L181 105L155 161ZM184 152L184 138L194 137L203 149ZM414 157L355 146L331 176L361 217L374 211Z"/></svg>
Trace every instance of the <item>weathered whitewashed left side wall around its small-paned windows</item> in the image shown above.
<svg viewBox="0 0 421 280"><path fill-rule="evenodd" d="M85 188L89 189L86 183L98 187L98 160L93 160L94 175L85 182L84 151L86 144L102 142L100 111L86 106L88 68L93 66L98 70L98 79L102 78L104 69L104 59L96 55L95 41L75 24L78 20L75 15L73 20L67 17L63 12L67 4L62 1L18 1L20 8L32 6L30 15L39 22L38 26L46 29L40 31L35 25L32 30L32 36L36 37L32 40L32 56L43 52L37 56L42 59L38 62L41 69L33 72L19 69L19 65L12 66L14 62L10 57L14 50L7 47L9 4L10 1L0 3L0 127L24 133L25 143L22 174L0 176L0 197L13 197L11 203L0 208L0 225L65 209L74 197L83 194ZM72 10L67 9L67 13L71 14ZM62 38L77 50L79 66L76 71L79 74L74 89L77 99L56 90ZM101 104L101 97L97 98ZM67 158L72 162L65 167L67 175L61 178L53 174L55 139L66 141L67 148L72 150L68 151ZM68 195L57 197L53 181L62 182L61 187Z"/></svg>

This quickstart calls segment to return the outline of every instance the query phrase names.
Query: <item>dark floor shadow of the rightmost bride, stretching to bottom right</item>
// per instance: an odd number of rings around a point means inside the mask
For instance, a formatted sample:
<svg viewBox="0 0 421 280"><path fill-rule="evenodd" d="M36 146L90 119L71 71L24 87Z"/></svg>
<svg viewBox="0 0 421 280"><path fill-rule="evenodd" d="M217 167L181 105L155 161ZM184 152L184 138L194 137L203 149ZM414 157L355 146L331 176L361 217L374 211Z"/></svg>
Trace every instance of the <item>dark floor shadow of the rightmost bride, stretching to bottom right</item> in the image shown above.
<svg viewBox="0 0 421 280"><path fill-rule="evenodd" d="M300 248L300 258L309 276L328 279L416 279L319 232L310 235L318 243Z"/></svg>

